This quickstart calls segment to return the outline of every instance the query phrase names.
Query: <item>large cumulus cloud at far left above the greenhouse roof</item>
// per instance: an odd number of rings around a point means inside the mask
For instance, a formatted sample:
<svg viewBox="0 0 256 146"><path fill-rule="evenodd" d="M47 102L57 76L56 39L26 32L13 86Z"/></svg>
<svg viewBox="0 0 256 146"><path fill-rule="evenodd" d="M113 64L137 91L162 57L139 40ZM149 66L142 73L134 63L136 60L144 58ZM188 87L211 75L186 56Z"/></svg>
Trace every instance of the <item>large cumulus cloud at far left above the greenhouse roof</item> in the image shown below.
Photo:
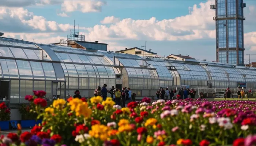
<svg viewBox="0 0 256 146"><path fill-rule="evenodd" d="M7 32L67 31L69 24L48 21L24 8L0 7L0 30Z"/></svg>

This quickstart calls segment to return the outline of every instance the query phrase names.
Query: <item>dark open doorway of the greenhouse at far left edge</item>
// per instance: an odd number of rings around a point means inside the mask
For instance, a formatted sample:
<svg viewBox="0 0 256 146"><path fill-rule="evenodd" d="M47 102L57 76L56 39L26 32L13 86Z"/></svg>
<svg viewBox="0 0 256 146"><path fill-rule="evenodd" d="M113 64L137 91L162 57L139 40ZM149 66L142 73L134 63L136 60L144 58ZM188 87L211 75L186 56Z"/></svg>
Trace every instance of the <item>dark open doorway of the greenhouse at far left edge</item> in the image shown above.
<svg viewBox="0 0 256 146"><path fill-rule="evenodd" d="M9 101L10 99L10 81L0 81L0 101Z"/></svg>

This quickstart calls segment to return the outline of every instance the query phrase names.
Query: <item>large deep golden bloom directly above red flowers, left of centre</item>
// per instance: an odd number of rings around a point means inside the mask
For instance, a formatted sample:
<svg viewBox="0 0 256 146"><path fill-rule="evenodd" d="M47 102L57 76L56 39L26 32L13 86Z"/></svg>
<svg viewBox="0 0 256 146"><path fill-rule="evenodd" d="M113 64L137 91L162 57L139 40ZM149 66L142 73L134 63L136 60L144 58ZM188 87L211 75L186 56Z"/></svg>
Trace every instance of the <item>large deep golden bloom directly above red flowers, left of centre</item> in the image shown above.
<svg viewBox="0 0 256 146"><path fill-rule="evenodd" d="M84 116L84 118L89 118L91 116L91 109L88 108L88 104L86 102L82 102L77 105L76 109L76 116Z"/></svg>

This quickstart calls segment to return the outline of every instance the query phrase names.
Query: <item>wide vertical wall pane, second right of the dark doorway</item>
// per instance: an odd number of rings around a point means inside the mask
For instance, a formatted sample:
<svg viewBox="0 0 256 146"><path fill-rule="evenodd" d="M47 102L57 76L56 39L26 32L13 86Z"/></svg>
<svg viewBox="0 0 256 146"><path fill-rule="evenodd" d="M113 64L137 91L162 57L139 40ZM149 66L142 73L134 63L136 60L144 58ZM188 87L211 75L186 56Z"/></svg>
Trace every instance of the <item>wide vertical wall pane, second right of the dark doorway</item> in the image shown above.
<svg viewBox="0 0 256 146"><path fill-rule="evenodd" d="M20 103L27 103L26 95L33 94L33 81L20 80Z"/></svg>

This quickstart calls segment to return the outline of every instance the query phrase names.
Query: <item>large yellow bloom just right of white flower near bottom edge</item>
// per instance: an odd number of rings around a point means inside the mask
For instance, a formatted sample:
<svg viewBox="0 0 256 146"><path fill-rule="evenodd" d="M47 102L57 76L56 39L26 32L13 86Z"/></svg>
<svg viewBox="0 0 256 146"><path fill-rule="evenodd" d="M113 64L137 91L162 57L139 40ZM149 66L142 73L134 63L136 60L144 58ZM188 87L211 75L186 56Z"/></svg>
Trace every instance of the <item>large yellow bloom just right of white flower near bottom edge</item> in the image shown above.
<svg viewBox="0 0 256 146"><path fill-rule="evenodd" d="M91 126L89 135L94 138L100 138L102 141L106 141L108 139L108 131L108 126L96 124Z"/></svg>

